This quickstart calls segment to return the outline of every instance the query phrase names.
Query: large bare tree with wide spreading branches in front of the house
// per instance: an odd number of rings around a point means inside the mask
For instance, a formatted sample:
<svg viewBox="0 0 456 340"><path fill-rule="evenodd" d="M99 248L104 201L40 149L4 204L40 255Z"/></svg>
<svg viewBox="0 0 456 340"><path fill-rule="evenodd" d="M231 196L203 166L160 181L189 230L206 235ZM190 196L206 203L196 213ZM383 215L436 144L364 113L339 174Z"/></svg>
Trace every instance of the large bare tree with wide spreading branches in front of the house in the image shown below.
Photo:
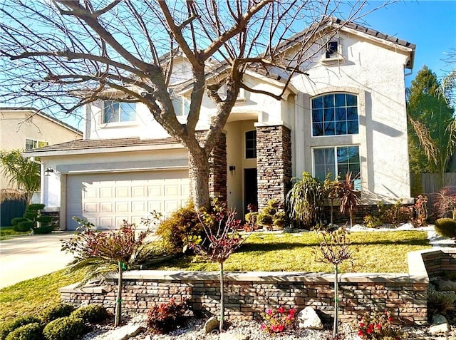
<svg viewBox="0 0 456 340"><path fill-rule="evenodd" d="M331 16L341 14L343 1L6 0L0 6L0 96L68 114L112 99L113 92L118 101L147 105L187 148L195 207L207 207L209 155L239 88L281 100L291 78L305 74L306 61L318 53L312 43L365 16L365 2L343 4L346 21L334 26ZM296 35L304 27L306 33ZM177 85L171 81L175 56L191 66L190 79ZM248 68L279 73L283 91L249 87L243 81ZM191 93L185 123L172 105L172 93L182 88ZM198 138L204 93L217 112Z"/></svg>

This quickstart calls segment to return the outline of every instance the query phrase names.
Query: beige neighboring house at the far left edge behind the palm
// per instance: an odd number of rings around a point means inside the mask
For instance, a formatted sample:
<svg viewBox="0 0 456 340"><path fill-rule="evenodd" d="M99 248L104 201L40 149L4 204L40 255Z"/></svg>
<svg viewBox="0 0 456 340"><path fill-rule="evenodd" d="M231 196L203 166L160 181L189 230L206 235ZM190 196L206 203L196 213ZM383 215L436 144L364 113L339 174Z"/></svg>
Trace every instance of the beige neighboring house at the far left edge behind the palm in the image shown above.
<svg viewBox="0 0 456 340"><path fill-rule="evenodd" d="M1 150L31 150L81 138L81 131L35 108L0 107ZM41 173L43 173L43 166ZM9 180L3 175L0 177L0 187L11 187ZM36 201L39 201L38 197ZM15 205L13 202L4 202L1 205L2 225L9 224L11 221L9 212L13 209L13 205Z"/></svg>

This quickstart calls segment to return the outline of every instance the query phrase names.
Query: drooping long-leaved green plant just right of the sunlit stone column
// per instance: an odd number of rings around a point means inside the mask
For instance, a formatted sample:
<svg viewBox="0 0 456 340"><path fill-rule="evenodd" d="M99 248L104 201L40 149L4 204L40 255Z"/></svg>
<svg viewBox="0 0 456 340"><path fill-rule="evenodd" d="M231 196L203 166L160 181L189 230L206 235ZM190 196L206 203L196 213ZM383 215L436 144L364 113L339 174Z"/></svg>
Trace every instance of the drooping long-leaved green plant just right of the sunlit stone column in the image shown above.
<svg viewBox="0 0 456 340"><path fill-rule="evenodd" d="M286 194L285 202L291 221L310 229L318 222L323 207L320 184L308 172L303 172L302 180L296 182Z"/></svg>

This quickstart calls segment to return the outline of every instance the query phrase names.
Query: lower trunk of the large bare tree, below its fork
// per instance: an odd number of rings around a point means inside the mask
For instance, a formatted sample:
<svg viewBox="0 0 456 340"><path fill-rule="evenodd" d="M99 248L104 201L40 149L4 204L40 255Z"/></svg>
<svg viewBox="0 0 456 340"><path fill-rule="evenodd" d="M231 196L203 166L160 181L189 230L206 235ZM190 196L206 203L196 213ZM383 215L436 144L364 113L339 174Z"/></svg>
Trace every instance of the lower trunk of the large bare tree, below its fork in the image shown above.
<svg viewBox="0 0 456 340"><path fill-rule="evenodd" d="M209 208L209 156L202 149L189 150L189 175L195 209Z"/></svg>

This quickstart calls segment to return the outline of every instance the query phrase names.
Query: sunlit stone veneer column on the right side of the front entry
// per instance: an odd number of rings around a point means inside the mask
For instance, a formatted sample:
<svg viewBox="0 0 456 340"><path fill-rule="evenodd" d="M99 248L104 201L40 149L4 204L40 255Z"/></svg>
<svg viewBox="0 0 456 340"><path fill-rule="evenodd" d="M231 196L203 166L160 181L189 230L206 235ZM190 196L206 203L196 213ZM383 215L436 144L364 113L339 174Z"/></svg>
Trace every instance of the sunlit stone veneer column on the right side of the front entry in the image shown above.
<svg viewBox="0 0 456 340"><path fill-rule="evenodd" d="M284 125L257 126L258 208L272 199L284 205L291 181L291 130Z"/></svg>

